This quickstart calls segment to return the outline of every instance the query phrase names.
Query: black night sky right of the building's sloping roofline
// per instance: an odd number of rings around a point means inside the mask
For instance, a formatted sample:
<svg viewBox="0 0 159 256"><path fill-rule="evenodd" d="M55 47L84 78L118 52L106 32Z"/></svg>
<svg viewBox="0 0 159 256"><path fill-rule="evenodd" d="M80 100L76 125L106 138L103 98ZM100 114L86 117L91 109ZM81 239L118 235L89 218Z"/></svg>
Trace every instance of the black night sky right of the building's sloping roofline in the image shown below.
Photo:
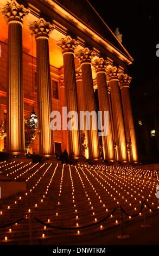
<svg viewBox="0 0 159 256"><path fill-rule="evenodd" d="M135 59L129 66L133 86L139 86L157 74L159 76L159 57L156 57L159 2L90 0L90 3L113 32L119 27L123 34L122 44Z"/></svg>

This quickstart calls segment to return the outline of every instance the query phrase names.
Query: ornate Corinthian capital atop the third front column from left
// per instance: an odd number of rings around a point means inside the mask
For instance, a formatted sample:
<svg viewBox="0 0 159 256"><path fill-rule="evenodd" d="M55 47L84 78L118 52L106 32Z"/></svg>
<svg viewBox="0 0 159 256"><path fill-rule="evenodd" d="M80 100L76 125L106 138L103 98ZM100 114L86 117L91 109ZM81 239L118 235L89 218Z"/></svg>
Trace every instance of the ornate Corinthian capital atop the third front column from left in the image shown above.
<svg viewBox="0 0 159 256"><path fill-rule="evenodd" d="M61 40L57 42L57 45L61 48L62 53L74 53L75 48L78 46L78 44L79 42L75 39L72 39L70 35L67 35L65 38L61 38Z"/></svg>

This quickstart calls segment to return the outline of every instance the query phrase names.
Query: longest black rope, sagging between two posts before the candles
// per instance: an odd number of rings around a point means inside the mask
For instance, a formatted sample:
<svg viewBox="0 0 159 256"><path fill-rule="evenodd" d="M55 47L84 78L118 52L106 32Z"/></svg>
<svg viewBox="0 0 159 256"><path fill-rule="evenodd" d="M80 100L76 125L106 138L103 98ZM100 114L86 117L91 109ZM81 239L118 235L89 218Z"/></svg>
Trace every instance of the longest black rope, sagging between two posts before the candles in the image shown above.
<svg viewBox="0 0 159 256"><path fill-rule="evenodd" d="M63 230L74 230L74 229L84 229L84 228L90 228L90 227L93 227L94 225L98 225L99 223L107 220L107 218L109 218L112 214L114 214L114 212L117 210L117 207L115 209L113 209L113 211L107 215L105 218L103 218L102 220L96 222L96 223L92 223L92 224L89 224L89 225L85 225L85 226L82 226L82 227L72 227L72 228L69 228L69 227L57 227L57 226L53 226L51 224L48 224L48 223L44 223L43 221L39 220L39 218L34 218L37 222L40 222L41 224L43 225L46 225L47 227L49 228L55 228L55 229L63 229Z"/></svg>

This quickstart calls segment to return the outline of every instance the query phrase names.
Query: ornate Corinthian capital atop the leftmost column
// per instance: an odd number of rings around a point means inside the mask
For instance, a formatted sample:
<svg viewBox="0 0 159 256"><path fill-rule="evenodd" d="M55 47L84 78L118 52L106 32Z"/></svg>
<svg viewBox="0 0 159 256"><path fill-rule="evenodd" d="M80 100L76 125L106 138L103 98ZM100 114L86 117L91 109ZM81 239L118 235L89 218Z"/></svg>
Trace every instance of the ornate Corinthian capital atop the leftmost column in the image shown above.
<svg viewBox="0 0 159 256"><path fill-rule="evenodd" d="M28 9L24 8L24 5L17 3L16 0L8 2L2 10L2 14L5 16L7 22L20 21L23 23L24 17L29 14L29 12Z"/></svg>

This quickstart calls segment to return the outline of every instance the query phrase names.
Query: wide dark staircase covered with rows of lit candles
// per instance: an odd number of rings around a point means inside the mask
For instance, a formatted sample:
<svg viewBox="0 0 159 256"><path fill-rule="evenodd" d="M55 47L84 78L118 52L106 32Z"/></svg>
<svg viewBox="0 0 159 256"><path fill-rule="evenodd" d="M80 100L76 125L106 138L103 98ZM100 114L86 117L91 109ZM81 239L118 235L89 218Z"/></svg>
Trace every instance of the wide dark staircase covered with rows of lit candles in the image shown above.
<svg viewBox="0 0 159 256"><path fill-rule="evenodd" d="M0 174L27 182L25 193L0 199L1 245L85 244L120 227L121 212L135 223L159 209L157 171L10 161Z"/></svg>

